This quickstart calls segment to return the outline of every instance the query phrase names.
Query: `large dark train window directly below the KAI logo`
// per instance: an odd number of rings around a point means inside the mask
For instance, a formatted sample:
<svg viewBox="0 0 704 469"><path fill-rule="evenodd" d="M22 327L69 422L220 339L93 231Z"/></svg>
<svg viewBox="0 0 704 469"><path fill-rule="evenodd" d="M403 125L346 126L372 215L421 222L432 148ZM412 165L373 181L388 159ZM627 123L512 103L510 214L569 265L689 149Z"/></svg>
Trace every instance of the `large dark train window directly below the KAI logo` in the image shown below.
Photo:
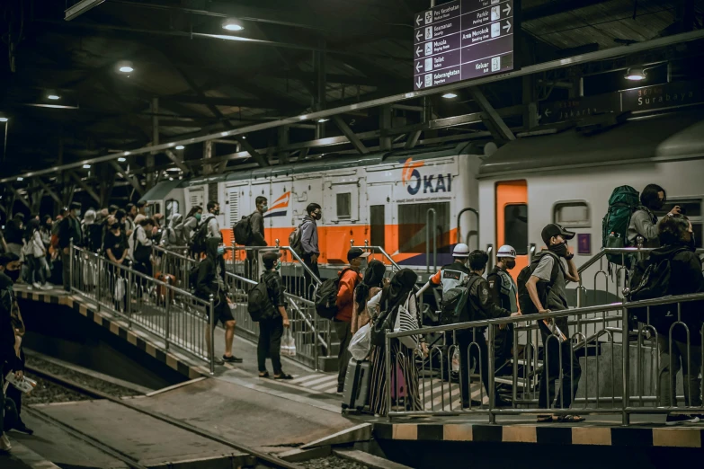
<svg viewBox="0 0 704 469"><path fill-rule="evenodd" d="M428 226L428 218L433 223L432 212L435 210L435 226ZM430 233L427 232L431 228ZM428 234L431 242L436 236L438 252L449 252L450 249L450 202L405 204L398 206L398 252L425 253L425 238Z"/></svg>

